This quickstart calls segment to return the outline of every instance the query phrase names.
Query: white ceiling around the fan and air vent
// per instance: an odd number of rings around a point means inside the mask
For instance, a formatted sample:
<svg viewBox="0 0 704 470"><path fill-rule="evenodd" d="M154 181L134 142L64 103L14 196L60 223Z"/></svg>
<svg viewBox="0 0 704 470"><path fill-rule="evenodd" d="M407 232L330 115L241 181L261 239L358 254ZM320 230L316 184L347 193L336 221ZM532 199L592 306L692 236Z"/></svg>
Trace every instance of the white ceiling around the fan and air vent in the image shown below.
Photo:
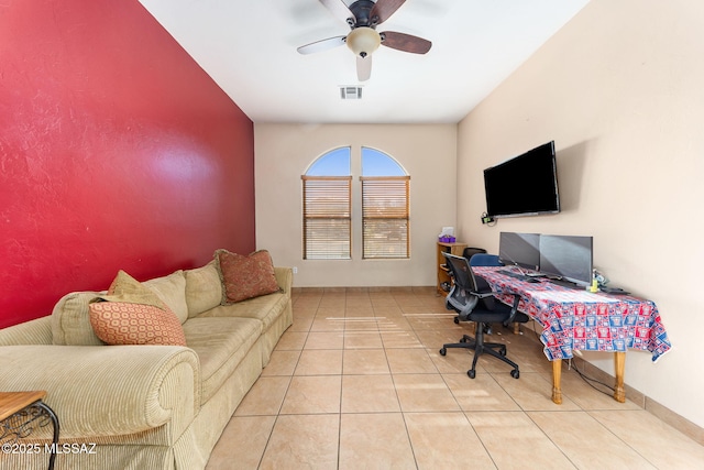
<svg viewBox="0 0 704 470"><path fill-rule="evenodd" d="M309 123L459 122L588 2L407 0L377 31L432 48L382 46L360 83L345 46L296 51L350 31L318 0L140 1L254 122ZM359 85L361 100L340 99Z"/></svg>

